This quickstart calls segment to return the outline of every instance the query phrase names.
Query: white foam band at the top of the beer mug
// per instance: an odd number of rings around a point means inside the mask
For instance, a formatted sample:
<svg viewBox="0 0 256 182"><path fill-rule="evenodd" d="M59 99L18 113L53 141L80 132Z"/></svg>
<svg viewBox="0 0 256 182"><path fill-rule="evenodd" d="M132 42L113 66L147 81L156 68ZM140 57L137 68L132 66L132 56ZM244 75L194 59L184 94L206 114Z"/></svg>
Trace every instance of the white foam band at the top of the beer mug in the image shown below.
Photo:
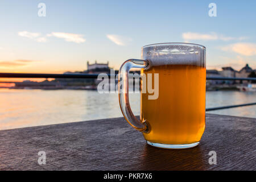
<svg viewBox="0 0 256 182"><path fill-rule="evenodd" d="M194 44L152 45L142 48L142 59L150 61L150 67L159 65L204 66L205 48Z"/></svg>

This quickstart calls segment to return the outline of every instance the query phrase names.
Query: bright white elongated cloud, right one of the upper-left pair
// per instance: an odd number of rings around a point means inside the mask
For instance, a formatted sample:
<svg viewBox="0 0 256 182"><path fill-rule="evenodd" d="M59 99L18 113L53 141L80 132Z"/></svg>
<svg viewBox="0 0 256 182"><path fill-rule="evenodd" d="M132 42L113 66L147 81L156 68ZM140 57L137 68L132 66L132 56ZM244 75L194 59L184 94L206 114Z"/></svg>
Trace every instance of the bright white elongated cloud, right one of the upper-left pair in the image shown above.
<svg viewBox="0 0 256 182"><path fill-rule="evenodd" d="M55 36L56 38L64 39L67 42L83 43L86 41L84 35L81 34L71 34L65 32L51 32L47 36Z"/></svg>

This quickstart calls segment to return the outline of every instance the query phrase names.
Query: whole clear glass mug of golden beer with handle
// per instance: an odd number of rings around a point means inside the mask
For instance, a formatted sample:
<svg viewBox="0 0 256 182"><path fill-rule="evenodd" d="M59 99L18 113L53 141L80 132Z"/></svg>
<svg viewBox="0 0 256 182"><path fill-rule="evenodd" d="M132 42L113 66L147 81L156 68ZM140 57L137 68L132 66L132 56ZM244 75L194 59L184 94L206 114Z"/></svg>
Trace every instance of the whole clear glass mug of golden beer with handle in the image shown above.
<svg viewBox="0 0 256 182"><path fill-rule="evenodd" d="M125 61L119 69L119 104L126 121L141 131L151 146L197 146L205 129L205 47L190 43L151 44L142 47L141 57L142 60ZM151 75L147 82L142 79L142 90L148 81L158 79L152 81L157 98L141 92L140 119L129 104L131 68L141 68L142 78Z"/></svg>

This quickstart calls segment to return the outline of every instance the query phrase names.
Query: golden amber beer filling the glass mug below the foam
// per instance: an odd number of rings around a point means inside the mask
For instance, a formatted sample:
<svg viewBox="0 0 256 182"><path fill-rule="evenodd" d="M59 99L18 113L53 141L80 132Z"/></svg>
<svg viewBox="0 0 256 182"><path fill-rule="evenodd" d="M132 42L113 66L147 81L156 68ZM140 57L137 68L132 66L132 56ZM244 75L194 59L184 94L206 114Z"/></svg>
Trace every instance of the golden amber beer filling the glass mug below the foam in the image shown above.
<svg viewBox="0 0 256 182"><path fill-rule="evenodd" d="M159 73L158 99L148 100L148 93L141 94L141 119L150 125L144 138L154 143L199 142L205 128L206 69L160 65L141 72Z"/></svg>

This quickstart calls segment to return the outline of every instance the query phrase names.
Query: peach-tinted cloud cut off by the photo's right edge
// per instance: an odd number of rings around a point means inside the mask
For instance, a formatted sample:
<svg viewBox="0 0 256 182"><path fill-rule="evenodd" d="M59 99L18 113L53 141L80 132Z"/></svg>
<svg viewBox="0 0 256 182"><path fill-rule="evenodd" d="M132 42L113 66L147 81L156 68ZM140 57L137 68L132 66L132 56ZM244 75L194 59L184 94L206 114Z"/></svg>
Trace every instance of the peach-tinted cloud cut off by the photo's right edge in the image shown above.
<svg viewBox="0 0 256 182"><path fill-rule="evenodd" d="M222 51L231 51L240 55L252 56L256 55L256 44L254 43L235 43L228 46L220 47Z"/></svg>

